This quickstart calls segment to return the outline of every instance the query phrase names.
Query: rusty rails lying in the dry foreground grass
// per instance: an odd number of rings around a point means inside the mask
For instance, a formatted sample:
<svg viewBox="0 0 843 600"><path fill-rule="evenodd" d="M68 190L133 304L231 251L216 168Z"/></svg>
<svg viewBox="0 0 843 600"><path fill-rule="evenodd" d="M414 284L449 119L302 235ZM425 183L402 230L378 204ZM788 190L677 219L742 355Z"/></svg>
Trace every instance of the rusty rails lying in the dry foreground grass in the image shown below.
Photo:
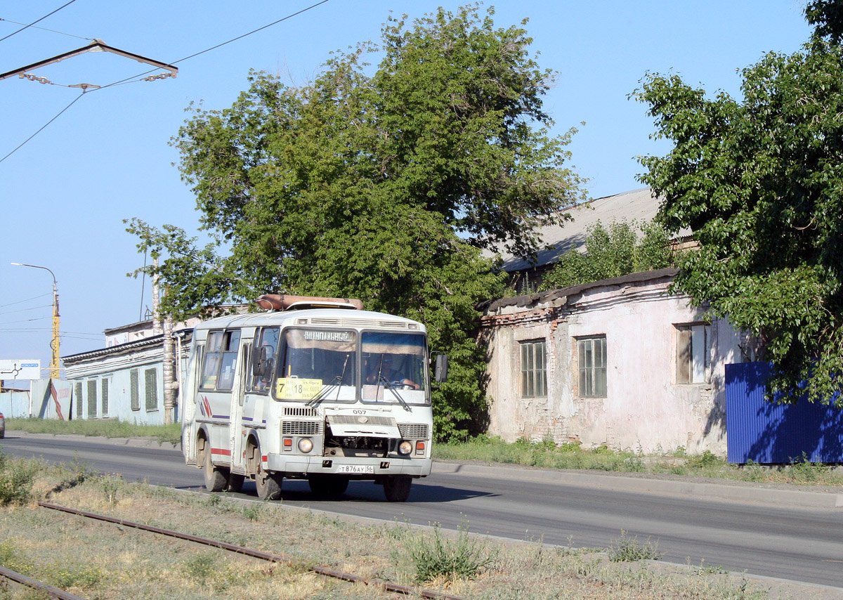
<svg viewBox="0 0 843 600"><path fill-rule="evenodd" d="M69 508L67 506L60 506L57 504L51 504L50 502L38 502L38 506L46 509L50 509L52 511L59 511L65 512L68 514L76 515L78 517L84 517L88 519L93 519L97 521L103 522L110 522L115 523L116 525L120 525L121 527L126 528L135 528L141 531L147 531L150 533L157 533L158 535L164 535L169 538L178 538L188 542L192 542L194 544L203 544L206 546L212 546L213 548L227 550L228 552L233 552L235 554L242 554L244 556L250 556L255 559L259 560L266 560L268 562L273 562L281 565L287 565L290 567L306 569L308 571L312 571L319 576L330 577L333 579L338 579L341 581L349 581L352 583L362 584L364 586L379 588L384 590L385 592L392 592L395 594L400 594L402 596L418 596L423 598L431 598L431 600L464 600L459 596L452 596L449 594L445 594L442 592L433 592L431 590L423 590L417 589L414 587L407 587L407 586L400 586L396 583L392 583L390 581L382 581L378 579L368 579L366 577L360 577L353 575L352 573L344 573L342 571L336 571L335 569L330 569L325 566L319 565L305 565L303 562L298 562L295 560L289 560L286 557L282 556L281 554L275 554L272 552L265 552L263 550L247 548L245 546L239 546L236 544L228 544L227 542L220 542L218 540L209 539L209 538L201 538L196 535L191 535L190 533L181 533L178 531L173 531L171 529L164 529L153 527L150 525L144 525L143 523L126 521L124 519L118 519L115 517L109 517L107 515L100 515L95 512L86 512L80 511L75 508ZM59 600L84 600L84 598L74 596L71 593L65 592L57 587L48 586L40 581L36 581L31 579L30 577L20 575L19 573L15 573L14 571L9 571L3 567L0 567L0 576L3 576L9 580L16 581L22 585L33 587L35 589L39 589L50 597L58 598Z"/></svg>

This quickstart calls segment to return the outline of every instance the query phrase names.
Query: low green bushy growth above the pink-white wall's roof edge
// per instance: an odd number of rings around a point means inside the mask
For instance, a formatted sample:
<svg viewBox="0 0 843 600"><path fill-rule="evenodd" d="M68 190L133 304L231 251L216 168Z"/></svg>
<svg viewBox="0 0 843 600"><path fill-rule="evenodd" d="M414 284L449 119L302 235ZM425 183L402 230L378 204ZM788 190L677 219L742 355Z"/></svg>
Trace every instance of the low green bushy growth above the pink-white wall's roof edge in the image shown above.
<svg viewBox="0 0 843 600"><path fill-rule="evenodd" d="M638 231L642 233L639 239ZM670 266L670 238L655 222L597 222L588 229L585 252L569 249L545 275L540 291L577 286L640 271Z"/></svg>

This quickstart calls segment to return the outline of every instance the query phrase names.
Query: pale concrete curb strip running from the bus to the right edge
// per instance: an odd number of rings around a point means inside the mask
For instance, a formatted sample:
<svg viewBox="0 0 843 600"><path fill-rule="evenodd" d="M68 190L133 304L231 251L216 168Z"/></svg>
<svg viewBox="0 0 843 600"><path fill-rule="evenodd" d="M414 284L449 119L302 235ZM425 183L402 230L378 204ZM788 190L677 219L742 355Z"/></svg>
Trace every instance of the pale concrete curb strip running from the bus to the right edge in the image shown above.
<svg viewBox="0 0 843 600"><path fill-rule="evenodd" d="M673 494L712 500L756 502L776 506L843 507L843 493L781 490L760 487L759 485L728 485L693 480L648 479L646 475L626 477L590 471L561 471L476 463L443 463L440 461L433 463L433 473L464 473L486 477L556 481L567 485L598 487L606 490Z"/></svg>

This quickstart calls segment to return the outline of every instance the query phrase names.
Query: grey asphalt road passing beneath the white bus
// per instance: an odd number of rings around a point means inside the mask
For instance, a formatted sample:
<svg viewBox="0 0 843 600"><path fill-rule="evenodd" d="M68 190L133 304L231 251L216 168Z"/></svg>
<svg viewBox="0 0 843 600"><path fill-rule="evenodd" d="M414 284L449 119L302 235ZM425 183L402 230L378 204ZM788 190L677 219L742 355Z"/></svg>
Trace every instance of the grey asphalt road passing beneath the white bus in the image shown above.
<svg viewBox="0 0 843 600"><path fill-rule="evenodd" d="M126 479L200 490L201 470L188 467L179 450L119 446L72 437L8 437L6 453L49 461L91 464ZM606 548L621 530L658 542L663 560L722 566L727 571L780 577L840 587L843 596L843 508L805 508L746 501L714 501L679 494L539 481L513 476L513 469L472 469L472 473L434 473L413 484L410 501L384 501L371 482L352 482L339 501L314 501L307 482L285 479L282 501L357 517L468 526L473 533L542 540L545 544ZM254 484L233 495L255 500Z"/></svg>

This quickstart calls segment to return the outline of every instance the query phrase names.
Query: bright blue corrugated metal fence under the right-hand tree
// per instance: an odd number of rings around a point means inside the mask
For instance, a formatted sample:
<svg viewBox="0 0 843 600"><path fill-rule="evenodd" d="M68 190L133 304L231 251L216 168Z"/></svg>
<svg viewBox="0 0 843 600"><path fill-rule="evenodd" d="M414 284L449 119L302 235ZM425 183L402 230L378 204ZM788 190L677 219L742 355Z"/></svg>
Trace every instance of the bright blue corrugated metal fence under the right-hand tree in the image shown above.
<svg viewBox="0 0 843 600"><path fill-rule="evenodd" d="M843 463L843 410L808 401L764 401L765 362L726 365L726 436L730 463Z"/></svg>

